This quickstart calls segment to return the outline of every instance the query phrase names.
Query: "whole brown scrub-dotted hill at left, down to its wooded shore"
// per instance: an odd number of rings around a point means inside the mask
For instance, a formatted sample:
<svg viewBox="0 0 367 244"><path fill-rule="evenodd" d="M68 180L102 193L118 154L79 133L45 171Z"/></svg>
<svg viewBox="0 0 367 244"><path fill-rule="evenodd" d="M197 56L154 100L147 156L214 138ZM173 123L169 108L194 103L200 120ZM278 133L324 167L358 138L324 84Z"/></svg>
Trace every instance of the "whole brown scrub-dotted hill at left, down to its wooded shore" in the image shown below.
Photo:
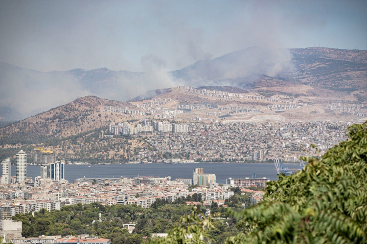
<svg viewBox="0 0 367 244"><path fill-rule="evenodd" d="M110 121L139 120L141 116L106 113L103 106L133 108L126 102L118 102L86 96L75 101L31 116L0 128L1 158L13 157L20 149L31 159L33 146L41 145L56 151L58 156L70 156L75 160L128 161L146 145L142 138L101 139L101 130L107 132ZM134 108L136 109L136 108Z"/></svg>

